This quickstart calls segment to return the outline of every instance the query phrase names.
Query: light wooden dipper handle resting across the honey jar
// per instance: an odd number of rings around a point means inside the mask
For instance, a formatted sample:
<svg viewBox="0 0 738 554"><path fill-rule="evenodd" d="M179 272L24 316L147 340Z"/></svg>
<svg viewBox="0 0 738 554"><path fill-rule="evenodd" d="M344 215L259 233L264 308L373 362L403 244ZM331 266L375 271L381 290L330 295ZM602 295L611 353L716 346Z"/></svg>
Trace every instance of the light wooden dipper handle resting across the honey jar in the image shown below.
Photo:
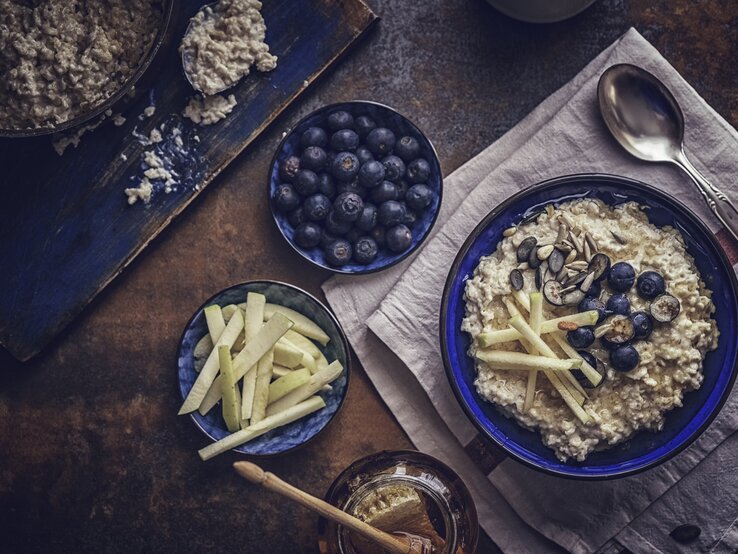
<svg viewBox="0 0 738 554"><path fill-rule="evenodd" d="M326 519L343 525L347 529L376 543L387 552L393 554L429 554L431 552L432 545L430 540L414 535L393 535L381 531L328 504L328 502L282 481L273 473L264 471L256 464L251 462L235 462L233 467L244 479L256 485L262 485L266 489L281 494L290 500L294 500L308 510L312 510Z"/></svg>

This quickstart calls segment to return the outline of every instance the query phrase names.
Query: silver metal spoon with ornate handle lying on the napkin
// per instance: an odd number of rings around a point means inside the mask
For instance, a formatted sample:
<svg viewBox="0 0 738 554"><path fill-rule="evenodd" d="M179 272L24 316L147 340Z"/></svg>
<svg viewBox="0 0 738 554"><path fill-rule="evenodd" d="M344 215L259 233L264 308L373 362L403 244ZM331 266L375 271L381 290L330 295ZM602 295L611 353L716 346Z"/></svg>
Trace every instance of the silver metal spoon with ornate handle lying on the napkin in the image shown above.
<svg viewBox="0 0 738 554"><path fill-rule="evenodd" d="M623 148L641 160L669 162L684 170L738 240L738 210L684 154L684 115L664 83L640 67L617 64L600 77L597 97L607 128Z"/></svg>

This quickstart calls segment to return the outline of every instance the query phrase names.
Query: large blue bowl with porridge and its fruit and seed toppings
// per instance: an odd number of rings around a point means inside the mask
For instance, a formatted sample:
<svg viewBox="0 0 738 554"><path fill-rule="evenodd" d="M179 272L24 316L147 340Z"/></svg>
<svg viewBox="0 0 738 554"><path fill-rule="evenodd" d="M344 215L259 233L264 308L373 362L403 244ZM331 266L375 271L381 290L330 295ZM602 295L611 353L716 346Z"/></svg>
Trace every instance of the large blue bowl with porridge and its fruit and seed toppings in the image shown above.
<svg viewBox="0 0 738 554"><path fill-rule="evenodd" d="M446 372L511 457L564 477L630 475L686 448L727 399L737 291L714 235L667 194L556 178L462 246L441 309Z"/></svg>

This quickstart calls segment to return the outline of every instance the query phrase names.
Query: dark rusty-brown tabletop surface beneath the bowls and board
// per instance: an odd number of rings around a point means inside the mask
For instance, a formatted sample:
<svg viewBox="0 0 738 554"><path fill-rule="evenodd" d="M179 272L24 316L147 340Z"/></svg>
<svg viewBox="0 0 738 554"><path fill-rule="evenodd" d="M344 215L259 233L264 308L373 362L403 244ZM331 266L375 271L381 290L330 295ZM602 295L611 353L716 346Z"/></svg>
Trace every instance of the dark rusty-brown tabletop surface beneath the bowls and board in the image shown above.
<svg viewBox="0 0 738 554"><path fill-rule="evenodd" d="M236 478L235 455L199 460L206 441L176 416L174 367L184 323L230 284L275 278L321 295L328 275L284 247L264 182L282 131L310 110L355 98L387 103L426 131L449 173L635 26L738 125L738 3L599 0L540 26L483 0L368 1L382 17L370 36L47 351L28 364L0 353L0 550L316 551L316 519ZM335 424L265 466L322 495L355 458L411 446L354 368ZM484 539L480 552L493 551Z"/></svg>

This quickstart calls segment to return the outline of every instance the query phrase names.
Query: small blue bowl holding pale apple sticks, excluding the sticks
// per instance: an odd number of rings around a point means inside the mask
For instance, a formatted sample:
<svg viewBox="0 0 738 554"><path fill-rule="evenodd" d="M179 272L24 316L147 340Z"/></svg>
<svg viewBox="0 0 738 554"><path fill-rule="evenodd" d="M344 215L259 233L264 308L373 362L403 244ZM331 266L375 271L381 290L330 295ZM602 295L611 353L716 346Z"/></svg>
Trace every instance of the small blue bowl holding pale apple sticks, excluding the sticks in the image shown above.
<svg viewBox="0 0 738 554"><path fill-rule="evenodd" d="M243 303L249 292L263 294L267 302L291 308L317 323L330 337L330 341L324 347L317 343L316 346L320 348L328 361L338 360L344 367L341 376L331 383L332 390L320 393L325 400L324 408L234 448L236 452L251 457L274 456L290 452L310 442L336 417L348 392L349 346L341 325L330 310L304 290L276 281L250 281L234 285L208 298L185 326L177 356L179 391L182 399L190 392L198 375L195 368L195 346L208 333L203 310L213 304L224 307L229 304ZM206 415L195 411L190 414L190 417L195 425L213 441L218 441L230 434L223 421L220 402Z"/></svg>

